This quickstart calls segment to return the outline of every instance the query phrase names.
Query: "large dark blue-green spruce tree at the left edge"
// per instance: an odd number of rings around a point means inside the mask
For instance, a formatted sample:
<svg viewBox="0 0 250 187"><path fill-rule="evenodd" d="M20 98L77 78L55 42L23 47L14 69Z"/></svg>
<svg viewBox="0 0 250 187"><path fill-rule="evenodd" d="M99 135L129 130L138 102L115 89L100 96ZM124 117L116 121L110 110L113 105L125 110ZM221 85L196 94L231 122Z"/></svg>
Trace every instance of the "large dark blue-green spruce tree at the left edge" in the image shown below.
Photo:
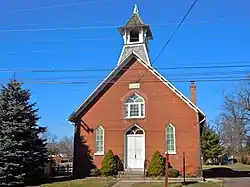
<svg viewBox="0 0 250 187"><path fill-rule="evenodd" d="M47 161L46 128L37 125L38 109L16 79L0 93L0 185L23 186L43 171Z"/></svg>

